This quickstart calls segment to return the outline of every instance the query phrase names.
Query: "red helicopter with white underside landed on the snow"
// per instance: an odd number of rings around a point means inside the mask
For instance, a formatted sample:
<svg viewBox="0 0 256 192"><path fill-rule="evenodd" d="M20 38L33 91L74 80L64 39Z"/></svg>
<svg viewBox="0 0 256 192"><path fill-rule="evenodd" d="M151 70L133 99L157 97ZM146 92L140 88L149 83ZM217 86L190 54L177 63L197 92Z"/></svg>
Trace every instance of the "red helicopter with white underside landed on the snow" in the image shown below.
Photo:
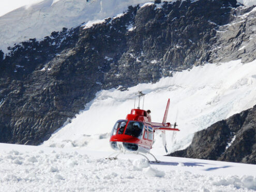
<svg viewBox="0 0 256 192"><path fill-rule="evenodd" d="M135 101L134 108L131 109L131 113L126 116L125 120L118 120L111 132L110 137L110 146L112 149L118 151L110 156L118 153L114 157L110 157L109 159L116 159L117 156L121 153L135 153L143 155L147 161L149 159L144 154L150 154L154 157L155 162L157 163L156 157L150 153L150 149L152 149L154 142L154 133L156 130L162 131L162 141L165 151L166 148L166 140L165 140L165 130L169 131L179 131L176 129L176 122L173 127L170 123L167 123L167 115L170 105L170 99L167 102L167 106L165 109L165 113L163 116L162 123L151 122L151 117L147 113L146 110L140 109L140 99L143 97L143 107L144 107L144 95L141 91L139 91L139 106L135 109ZM144 154L141 154L144 153ZM150 162L150 161L149 161Z"/></svg>

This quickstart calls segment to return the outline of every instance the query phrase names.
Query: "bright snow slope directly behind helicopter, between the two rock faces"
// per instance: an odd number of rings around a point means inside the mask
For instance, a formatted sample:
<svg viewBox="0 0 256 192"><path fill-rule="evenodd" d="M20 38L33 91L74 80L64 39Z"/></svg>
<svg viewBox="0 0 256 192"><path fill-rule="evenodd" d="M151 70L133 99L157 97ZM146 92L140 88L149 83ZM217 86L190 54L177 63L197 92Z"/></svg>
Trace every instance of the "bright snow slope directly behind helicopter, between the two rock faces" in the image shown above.
<svg viewBox="0 0 256 192"><path fill-rule="evenodd" d="M180 132L167 133L169 152L186 148L193 134L216 121L256 104L256 61L242 64L239 60L207 64L177 72L156 84L140 84L127 91L117 89L97 93L71 123L59 129L43 143L51 147L82 147L87 150L112 151L109 133L118 119L125 119L133 108L135 94L147 93L145 109L152 111L152 121L161 122L168 98L171 100L168 121ZM154 154L165 154L160 135L156 134Z"/></svg>

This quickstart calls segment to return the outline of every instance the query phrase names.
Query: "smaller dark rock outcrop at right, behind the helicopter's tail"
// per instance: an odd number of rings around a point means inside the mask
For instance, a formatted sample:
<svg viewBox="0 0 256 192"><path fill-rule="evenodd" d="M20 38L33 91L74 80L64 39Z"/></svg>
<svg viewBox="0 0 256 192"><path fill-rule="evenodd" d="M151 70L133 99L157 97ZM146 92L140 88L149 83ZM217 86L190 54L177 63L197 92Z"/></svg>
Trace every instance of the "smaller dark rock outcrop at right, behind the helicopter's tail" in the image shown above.
<svg viewBox="0 0 256 192"><path fill-rule="evenodd" d="M256 164L256 105L195 133L187 149L170 156Z"/></svg>

